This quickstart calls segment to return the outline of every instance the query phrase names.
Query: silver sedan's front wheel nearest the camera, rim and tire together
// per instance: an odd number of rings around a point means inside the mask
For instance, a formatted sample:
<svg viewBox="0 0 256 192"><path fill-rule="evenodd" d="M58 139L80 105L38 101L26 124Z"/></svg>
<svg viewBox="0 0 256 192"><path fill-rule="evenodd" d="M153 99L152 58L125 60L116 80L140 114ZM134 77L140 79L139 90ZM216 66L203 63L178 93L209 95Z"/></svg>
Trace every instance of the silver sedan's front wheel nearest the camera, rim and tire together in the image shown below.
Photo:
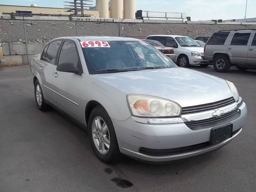
<svg viewBox="0 0 256 192"><path fill-rule="evenodd" d="M105 163L114 163L120 158L116 132L108 113L101 106L94 108L88 122L88 134L95 154Z"/></svg>

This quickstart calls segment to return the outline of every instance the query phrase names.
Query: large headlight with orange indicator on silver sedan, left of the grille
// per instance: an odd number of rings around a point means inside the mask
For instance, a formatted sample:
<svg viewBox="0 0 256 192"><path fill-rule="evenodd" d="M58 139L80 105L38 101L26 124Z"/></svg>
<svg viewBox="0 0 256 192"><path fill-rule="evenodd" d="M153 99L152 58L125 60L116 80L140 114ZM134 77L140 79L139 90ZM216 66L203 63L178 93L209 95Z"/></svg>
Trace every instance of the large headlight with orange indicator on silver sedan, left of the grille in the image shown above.
<svg viewBox="0 0 256 192"><path fill-rule="evenodd" d="M181 107L175 102L147 95L127 96L132 115L140 117L180 116Z"/></svg>

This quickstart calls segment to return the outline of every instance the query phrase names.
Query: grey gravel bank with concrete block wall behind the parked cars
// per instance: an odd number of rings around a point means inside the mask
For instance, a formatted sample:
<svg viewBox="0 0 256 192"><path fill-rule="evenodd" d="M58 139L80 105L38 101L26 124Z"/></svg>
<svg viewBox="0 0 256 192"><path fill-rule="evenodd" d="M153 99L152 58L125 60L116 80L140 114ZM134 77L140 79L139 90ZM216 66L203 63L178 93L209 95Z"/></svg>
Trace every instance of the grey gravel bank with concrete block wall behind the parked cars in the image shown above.
<svg viewBox="0 0 256 192"><path fill-rule="evenodd" d="M44 43L61 36L125 36L144 39L148 35L172 34L195 38L211 35L219 30L256 28L256 25L250 23L242 25L242 23L215 24L213 22L181 23L172 20L47 18L50 20L43 20L45 17L34 16L24 18L25 20L23 20L23 17L11 20L10 16L0 16L0 39L2 42L6 42L3 43L6 64L28 64L26 39L30 60L34 54L38 54L42 50ZM25 31L27 38L25 37Z"/></svg>

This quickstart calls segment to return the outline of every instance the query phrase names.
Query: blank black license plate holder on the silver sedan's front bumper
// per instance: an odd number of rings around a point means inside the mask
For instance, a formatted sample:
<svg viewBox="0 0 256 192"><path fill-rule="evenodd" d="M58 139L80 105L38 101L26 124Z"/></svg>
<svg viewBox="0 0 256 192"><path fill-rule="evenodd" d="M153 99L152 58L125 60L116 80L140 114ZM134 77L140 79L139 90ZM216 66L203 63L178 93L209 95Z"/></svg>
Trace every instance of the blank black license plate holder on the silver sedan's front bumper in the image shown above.
<svg viewBox="0 0 256 192"><path fill-rule="evenodd" d="M232 137L233 124L220 128L212 128L210 133L210 144L214 145Z"/></svg>

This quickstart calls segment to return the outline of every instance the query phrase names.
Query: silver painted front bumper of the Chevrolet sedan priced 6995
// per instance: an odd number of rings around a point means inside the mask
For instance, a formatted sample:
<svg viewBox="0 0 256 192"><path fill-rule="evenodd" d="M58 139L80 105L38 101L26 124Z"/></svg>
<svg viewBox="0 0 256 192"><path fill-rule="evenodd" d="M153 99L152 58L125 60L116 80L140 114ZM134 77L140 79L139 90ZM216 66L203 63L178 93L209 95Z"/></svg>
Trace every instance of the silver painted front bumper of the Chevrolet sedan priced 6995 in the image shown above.
<svg viewBox="0 0 256 192"><path fill-rule="evenodd" d="M120 152L150 162L164 162L196 156L205 152L209 152L228 144L241 131L242 126L246 121L247 108L243 103L238 108L238 118L230 121L218 122L206 128L199 130L191 129L185 123L174 124L144 124L134 120L134 117L128 118L126 121L118 121L112 119ZM182 148L187 146L194 146L209 142L210 130L214 127L222 127L228 124L233 124L233 136L223 142L215 145L207 145L198 150L190 150L189 152L182 152L180 154L166 155L166 156L152 156L140 153L140 148L148 148L154 150Z"/></svg>

